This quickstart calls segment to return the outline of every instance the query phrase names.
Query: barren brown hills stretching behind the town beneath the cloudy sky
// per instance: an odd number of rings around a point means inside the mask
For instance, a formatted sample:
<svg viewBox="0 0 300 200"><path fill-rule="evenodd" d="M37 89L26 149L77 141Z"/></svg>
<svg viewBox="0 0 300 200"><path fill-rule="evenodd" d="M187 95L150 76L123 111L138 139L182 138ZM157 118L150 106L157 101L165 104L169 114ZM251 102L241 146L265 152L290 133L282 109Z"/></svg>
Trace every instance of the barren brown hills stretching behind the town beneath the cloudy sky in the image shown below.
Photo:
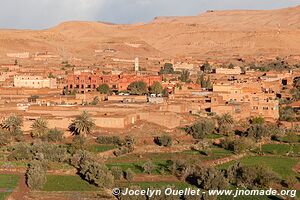
<svg viewBox="0 0 300 200"><path fill-rule="evenodd" d="M300 55L300 6L279 10L208 11L190 17L157 17L148 24L65 22L48 30L1 30L0 56L7 52L51 51L95 59L113 57L195 58Z"/></svg>

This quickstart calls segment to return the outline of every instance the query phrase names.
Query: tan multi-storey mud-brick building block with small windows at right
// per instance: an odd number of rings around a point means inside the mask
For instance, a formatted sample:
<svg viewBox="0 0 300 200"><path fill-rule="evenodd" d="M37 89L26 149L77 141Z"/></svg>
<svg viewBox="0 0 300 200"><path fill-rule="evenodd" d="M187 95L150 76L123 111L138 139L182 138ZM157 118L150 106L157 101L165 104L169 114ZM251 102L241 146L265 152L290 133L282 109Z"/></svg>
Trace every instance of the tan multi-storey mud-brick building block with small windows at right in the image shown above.
<svg viewBox="0 0 300 200"><path fill-rule="evenodd" d="M235 85L216 86L214 89L216 91L211 99L211 112L218 115L229 113L237 119L263 116L274 121L279 118L279 101L274 93Z"/></svg>

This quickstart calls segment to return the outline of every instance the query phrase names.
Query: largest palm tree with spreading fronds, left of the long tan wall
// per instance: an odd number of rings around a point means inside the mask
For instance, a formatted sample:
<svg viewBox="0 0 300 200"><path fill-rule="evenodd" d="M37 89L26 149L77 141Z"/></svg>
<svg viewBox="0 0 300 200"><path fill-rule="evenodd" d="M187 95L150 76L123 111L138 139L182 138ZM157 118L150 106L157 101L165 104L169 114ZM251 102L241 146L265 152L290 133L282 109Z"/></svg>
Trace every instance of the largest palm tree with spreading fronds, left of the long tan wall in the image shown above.
<svg viewBox="0 0 300 200"><path fill-rule="evenodd" d="M69 129L73 134L83 135L84 137L86 137L86 135L90 133L94 127L94 120L86 111L83 111L82 114L77 116L69 125Z"/></svg>

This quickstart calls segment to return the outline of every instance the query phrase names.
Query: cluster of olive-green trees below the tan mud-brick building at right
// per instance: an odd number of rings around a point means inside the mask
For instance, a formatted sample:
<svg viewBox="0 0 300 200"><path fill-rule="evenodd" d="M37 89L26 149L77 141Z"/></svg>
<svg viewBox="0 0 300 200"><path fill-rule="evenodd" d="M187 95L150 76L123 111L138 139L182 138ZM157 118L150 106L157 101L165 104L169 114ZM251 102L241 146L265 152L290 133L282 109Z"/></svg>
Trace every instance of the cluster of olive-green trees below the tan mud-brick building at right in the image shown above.
<svg viewBox="0 0 300 200"><path fill-rule="evenodd" d="M277 125L265 123L262 117L255 117L250 120L248 125L243 126L244 130L236 130L233 118L229 114L224 114L216 117L215 120L205 119L196 122L185 127L185 131L198 140L198 143L192 146L192 149L204 155L210 155L211 153L211 144L205 138L213 133L227 136L225 139L221 139L217 145L235 153L243 153L252 150L256 144L263 140L280 140L288 132L287 129L280 128ZM296 140L298 139L296 138Z"/></svg>

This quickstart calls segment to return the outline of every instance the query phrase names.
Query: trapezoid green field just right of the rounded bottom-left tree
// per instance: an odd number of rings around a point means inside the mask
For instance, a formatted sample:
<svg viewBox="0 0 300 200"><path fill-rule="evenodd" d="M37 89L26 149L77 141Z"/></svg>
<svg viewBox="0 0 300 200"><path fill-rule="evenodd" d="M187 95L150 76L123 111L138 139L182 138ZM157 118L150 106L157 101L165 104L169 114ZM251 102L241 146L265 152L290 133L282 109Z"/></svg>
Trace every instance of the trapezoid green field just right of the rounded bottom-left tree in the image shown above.
<svg viewBox="0 0 300 200"><path fill-rule="evenodd" d="M43 191L97 191L98 187L89 184L79 176L47 175Z"/></svg>

